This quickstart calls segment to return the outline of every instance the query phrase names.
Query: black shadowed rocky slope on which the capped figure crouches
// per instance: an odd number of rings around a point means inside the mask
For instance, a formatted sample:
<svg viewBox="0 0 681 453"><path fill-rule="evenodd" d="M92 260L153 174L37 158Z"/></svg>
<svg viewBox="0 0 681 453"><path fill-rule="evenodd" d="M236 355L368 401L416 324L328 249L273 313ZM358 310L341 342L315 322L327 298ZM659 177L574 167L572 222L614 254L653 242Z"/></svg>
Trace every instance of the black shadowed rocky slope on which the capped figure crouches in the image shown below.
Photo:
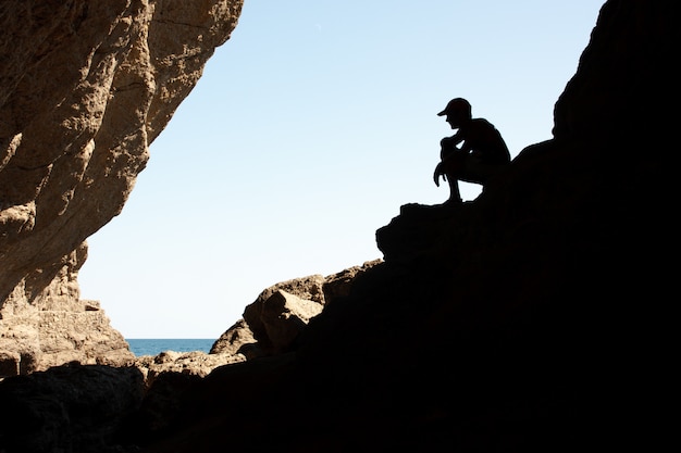
<svg viewBox="0 0 681 453"><path fill-rule="evenodd" d="M406 203L376 231L384 260L340 287L313 277L263 292L245 312L261 343L248 361L166 373L145 392L131 390L138 372L101 365L8 378L0 448L663 450L676 433L677 216L676 125L659 106L677 93L677 10L605 2L554 138L462 206ZM293 338L273 326L271 310L300 326L309 301L323 310ZM83 379L90 393L59 392ZM101 394L115 411L92 408Z"/></svg>

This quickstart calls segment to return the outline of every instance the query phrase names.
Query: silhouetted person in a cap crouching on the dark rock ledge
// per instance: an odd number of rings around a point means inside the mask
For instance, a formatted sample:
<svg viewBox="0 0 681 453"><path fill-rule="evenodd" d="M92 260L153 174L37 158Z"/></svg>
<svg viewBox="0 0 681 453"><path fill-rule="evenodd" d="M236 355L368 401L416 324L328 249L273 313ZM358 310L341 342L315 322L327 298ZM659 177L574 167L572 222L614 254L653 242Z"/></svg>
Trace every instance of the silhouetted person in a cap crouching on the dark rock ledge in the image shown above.
<svg viewBox="0 0 681 453"><path fill-rule="evenodd" d="M499 131L484 118L473 118L471 104L462 98L449 101L437 116L445 116L453 129L451 137L439 142L441 162L433 179L439 187L439 177L449 183L446 204L461 203L459 180L484 185L510 163L510 153ZM460 148L457 144L462 143Z"/></svg>

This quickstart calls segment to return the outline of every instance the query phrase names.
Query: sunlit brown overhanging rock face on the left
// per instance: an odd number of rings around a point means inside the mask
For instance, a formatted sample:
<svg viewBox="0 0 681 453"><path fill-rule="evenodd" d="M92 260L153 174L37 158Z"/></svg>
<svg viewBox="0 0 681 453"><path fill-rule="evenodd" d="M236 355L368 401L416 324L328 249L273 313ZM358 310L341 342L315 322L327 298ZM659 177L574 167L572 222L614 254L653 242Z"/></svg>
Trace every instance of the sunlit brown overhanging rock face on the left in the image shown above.
<svg viewBox="0 0 681 453"><path fill-rule="evenodd" d="M242 4L0 4L0 375L132 357L79 300L85 240L123 209Z"/></svg>

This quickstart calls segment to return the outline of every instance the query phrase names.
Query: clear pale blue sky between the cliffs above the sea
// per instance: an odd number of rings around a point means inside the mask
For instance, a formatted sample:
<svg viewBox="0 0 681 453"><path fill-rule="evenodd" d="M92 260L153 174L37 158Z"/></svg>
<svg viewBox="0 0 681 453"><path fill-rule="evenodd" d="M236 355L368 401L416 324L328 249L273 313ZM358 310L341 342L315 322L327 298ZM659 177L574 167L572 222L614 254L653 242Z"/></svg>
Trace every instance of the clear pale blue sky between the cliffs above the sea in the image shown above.
<svg viewBox="0 0 681 453"><path fill-rule="evenodd" d="M382 257L400 205L448 197L436 113L467 98L512 156L550 138L603 3L246 0L88 239L82 297L126 338L218 338L269 286Z"/></svg>

